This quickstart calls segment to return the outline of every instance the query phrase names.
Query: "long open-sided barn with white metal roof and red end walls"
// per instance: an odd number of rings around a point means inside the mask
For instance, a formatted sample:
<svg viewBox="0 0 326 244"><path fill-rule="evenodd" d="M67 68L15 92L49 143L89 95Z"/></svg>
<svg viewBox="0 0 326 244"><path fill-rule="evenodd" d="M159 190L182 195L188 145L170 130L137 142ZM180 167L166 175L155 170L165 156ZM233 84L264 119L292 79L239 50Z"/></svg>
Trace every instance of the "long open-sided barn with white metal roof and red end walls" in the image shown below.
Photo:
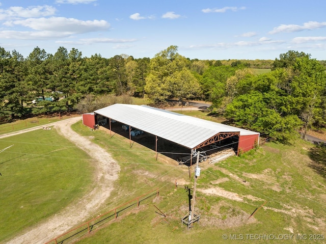
<svg viewBox="0 0 326 244"><path fill-rule="evenodd" d="M147 105L113 104L94 113L83 114L83 124L91 128L95 128L98 124L129 137L130 141L146 137L143 141L152 143L151 148L156 153L158 146L167 146L168 143L174 145L169 149L183 148L182 152L186 151L193 157L197 154L197 150L208 152L228 147L238 154L239 151L249 151L259 144L258 132ZM192 156L189 157L190 162Z"/></svg>

